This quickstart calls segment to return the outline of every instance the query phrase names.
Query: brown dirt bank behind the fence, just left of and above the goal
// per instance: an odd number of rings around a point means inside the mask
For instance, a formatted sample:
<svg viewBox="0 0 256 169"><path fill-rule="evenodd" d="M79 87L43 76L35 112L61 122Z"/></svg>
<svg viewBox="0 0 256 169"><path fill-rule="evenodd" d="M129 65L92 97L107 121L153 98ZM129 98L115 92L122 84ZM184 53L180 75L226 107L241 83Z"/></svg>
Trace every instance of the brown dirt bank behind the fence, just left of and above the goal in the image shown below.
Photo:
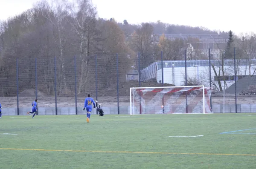
<svg viewBox="0 0 256 169"><path fill-rule="evenodd" d="M145 80L140 83L140 87L160 87L161 83L157 83L155 79ZM175 86L173 84L164 83L163 86ZM127 82L119 83L119 96L129 96L130 87L139 87L139 82L137 80L129 80ZM116 96L117 90L116 85L111 86L108 89L99 91L99 96Z"/></svg>

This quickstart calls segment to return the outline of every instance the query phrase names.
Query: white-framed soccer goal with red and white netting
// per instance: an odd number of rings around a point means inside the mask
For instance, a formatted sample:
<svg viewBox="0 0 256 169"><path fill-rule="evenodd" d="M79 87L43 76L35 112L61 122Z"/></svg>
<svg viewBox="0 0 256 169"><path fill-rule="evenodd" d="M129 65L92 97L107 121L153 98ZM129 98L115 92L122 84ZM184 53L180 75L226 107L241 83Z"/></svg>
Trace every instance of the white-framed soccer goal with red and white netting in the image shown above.
<svg viewBox="0 0 256 169"><path fill-rule="evenodd" d="M130 114L213 113L212 90L204 86L130 88Z"/></svg>

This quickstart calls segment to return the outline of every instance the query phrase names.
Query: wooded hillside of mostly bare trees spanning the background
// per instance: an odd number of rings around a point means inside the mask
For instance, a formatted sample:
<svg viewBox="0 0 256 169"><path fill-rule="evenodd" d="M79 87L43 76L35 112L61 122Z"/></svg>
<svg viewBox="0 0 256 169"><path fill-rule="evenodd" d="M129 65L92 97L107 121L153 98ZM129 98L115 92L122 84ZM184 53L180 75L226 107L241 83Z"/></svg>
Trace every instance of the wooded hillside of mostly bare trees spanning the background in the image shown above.
<svg viewBox="0 0 256 169"><path fill-rule="evenodd" d="M229 32L230 33L230 32ZM231 32L232 33L232 32ZM156 34L162 34L160 37ZM157 21L156 23L118 23L114 18L97 17L97 9L90 0L39 1L22 14L0 22L0 78L4 96L15 95L16 59L19 59L20 90L35 88L34 59L38 58L38 87L47 95L54 95L54 60L57 59L58 95L74 92L73 67L70 57L76 56L77 93L95 88L95 59L98 56L98 84L104 90L116 84L118 56L119 79L131 66L138 66L140 53L141 69L155 60L183 60L184 49L198 39L168 39L165 34L223 34L200 27L178 26ZM220 50L220 58L231 58L232 46L239 46L239 57L255 58L255 34L231 36L227 48ZM196 52L195 52L196 53ZM197 55L198 54L194 54ZM73 58L73 57L72 57ZM198 57L191 57L193 60ZM200 58L199 58L200 59ZM28 66L26 66L28 65ZM29 66L30 65L30 66ZM24 78L22 80L22 78Z"/></svg>

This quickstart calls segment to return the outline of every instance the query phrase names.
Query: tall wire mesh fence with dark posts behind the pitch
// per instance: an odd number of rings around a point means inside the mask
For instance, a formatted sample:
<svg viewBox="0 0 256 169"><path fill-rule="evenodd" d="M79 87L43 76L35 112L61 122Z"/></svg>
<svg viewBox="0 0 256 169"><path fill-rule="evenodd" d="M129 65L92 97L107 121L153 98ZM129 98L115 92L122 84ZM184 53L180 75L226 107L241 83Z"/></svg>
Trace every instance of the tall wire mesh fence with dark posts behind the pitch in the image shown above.
<svg viewBox="0 0 256 169"><path fill-rule="evenodd" d="M86 113L84 99L90 94L106 113L126 114L131 87L204 85L212 89L213 112L252 112L256 60L242 58L236 49L230 57L205 50L200 60L181 53L179 60L168 60L163 52L5 59L0 101L13 108L8 115L25 115L36 98L39 114L75 115Z"/></svg>

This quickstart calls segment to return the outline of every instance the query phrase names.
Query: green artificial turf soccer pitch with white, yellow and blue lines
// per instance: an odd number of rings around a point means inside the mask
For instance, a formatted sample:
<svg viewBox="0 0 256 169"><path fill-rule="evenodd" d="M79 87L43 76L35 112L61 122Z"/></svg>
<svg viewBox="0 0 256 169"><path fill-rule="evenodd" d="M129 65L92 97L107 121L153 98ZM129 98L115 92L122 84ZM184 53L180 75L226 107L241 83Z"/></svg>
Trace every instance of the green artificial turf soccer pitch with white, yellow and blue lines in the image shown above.
<svg viewBox="0 0 256 169"><path fill-rule="evenodd" d="M0 119L1 169L256 168L256 114L31 117Z"/></svg>

